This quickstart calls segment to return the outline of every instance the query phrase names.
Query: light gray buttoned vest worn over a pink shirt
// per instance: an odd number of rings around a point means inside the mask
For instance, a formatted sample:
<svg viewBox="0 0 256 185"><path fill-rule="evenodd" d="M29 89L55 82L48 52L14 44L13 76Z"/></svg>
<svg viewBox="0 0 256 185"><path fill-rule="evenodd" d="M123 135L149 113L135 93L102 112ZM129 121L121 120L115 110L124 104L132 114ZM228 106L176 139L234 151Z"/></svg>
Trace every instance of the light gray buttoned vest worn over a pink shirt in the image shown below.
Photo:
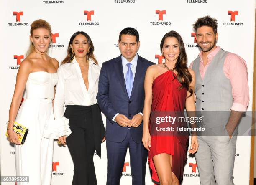
<svg viewBox="0 0 256 185"><path fill-rule="evenodd" d="M220 50L215 55L207 68L203 80L199 71L199 56L192 66L196 75L196 111L203 116L206 128L227 124L229 119L233 96L230 80L223 71L227 53L227 51Z"/></svg>

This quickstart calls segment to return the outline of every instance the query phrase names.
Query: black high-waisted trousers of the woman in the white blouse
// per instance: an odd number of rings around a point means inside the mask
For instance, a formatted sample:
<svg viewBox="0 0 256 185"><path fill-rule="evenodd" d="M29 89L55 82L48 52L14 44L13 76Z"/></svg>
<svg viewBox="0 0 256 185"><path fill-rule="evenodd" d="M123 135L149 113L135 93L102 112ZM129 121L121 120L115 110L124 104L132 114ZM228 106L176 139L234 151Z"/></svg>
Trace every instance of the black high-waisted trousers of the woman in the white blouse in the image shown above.
<svg viewBox="0 0 256 185"><path fill-rule="evenodd" d="M97 185L93 156L95 152L92 109L90 106L68 105L64 116L72 133L66 138L74 163L72 185Z"/></svg>

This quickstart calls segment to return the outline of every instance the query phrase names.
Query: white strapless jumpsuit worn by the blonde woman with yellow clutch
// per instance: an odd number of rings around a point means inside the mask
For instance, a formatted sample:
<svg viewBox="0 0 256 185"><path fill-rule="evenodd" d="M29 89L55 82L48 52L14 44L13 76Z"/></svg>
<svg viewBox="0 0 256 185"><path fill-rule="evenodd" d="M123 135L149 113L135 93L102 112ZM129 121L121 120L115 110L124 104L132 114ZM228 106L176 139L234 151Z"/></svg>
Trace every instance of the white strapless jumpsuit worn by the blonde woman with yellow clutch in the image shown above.
<svg viewBox="0 0 256 185"><path fill-rule="evenodd" d="M30 73L26 82L26 99L18 111L16 122L28 127L23 145L15 145L16 176L29 176L29 183L17 185L50 185L53 139L43 137L48 120L53 120L54 86L57 73Z"/></svg>

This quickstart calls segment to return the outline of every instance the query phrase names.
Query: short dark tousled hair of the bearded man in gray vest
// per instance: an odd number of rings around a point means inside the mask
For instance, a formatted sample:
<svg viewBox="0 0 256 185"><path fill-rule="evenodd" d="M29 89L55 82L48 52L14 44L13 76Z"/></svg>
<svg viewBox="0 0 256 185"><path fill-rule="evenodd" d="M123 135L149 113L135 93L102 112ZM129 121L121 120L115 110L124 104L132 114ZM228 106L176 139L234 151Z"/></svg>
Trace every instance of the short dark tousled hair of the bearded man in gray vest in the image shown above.
<svg viewBox="0 0 256 185"><path fill-rule="evenodd" d="M193 24L193 28L196 33L197 29L202 26L212 27L214 34L217 33L218 22L215 18L211 18L209 15L197 19L197 21Z"/></svg>

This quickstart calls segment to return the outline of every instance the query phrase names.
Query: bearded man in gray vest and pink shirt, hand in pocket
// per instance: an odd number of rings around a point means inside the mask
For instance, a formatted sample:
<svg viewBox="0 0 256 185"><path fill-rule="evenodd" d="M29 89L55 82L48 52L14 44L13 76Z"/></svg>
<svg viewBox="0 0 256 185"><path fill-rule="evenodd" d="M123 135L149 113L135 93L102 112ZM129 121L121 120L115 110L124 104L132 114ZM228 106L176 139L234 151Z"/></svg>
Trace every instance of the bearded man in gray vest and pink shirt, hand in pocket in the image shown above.
<svg viewBox="0 0 256 185"><path fill-rule="evenodd" d="M196 74L196 110L205 132L195 155L201 185L233 185L237 125L249 102L246 62L216 46L217 20L205 16L193 25L201 52L191 63Z"/></svg>

